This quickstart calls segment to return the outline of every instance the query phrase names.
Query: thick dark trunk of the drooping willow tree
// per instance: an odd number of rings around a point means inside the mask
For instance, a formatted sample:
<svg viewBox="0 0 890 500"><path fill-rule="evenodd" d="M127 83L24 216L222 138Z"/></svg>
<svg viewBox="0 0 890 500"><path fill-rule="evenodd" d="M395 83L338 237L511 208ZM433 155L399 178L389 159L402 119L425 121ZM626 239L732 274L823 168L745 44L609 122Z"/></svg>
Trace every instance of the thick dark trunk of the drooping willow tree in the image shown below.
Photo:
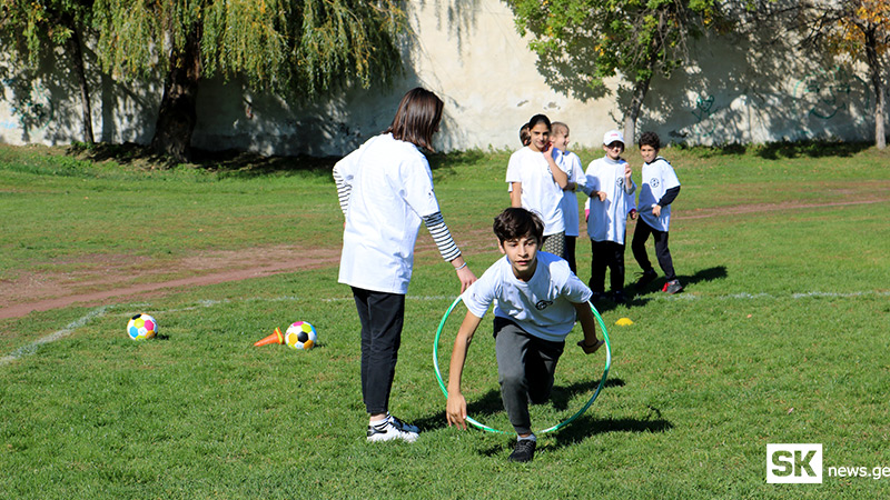
<svg viewBox="0 0 890 500"><path fill-rule="evenodd" d="M164 83L151 149L176 161L188 161L191 134L197 122L198 80L201 73L200 37L195 28L185 47L170 58Z"/></svg>

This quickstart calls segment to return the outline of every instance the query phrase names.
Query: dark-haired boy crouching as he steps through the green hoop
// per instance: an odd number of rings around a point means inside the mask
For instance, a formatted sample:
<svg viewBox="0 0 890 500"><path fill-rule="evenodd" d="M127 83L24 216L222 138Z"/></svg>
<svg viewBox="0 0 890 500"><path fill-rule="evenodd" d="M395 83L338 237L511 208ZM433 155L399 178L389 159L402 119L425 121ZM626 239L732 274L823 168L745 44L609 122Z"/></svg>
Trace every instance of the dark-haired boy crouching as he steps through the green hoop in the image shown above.
<svg viewBox="0 0 890 500"><path fill-rule="evenodd" d="M528 402L550 398L556 362L565 338L577 318L584 331L578 341L592 354L603 344L587 300L590 289L557 256L538 251L544 224L533 212L508 208L494 220L497 246L505 257L488 268L462 299L467 313L457 338L448 371L448 426L466 429L466 399L461 378L473 334L492 303L495 353L504 409L516 430L510 460L527 462L535 452Z"/></svg>

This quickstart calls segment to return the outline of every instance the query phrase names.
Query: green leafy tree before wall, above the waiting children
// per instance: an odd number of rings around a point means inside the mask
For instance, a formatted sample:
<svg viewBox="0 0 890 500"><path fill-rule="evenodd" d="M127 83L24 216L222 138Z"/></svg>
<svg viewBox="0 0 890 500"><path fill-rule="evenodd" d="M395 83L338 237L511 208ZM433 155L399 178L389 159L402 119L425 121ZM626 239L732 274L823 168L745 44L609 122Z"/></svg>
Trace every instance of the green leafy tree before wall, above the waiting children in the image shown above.
<svg viewBox="0 0 890 500"><path fill-rule="evenodd" d="M504 0L521 34L531 33L538 66L562 89L586 99L607 92L616 73L631 86L624 137L633 141L652 77L688 59L688 40L725 28L716 0ZM577 84L576 82L581 82Z"/></svg>

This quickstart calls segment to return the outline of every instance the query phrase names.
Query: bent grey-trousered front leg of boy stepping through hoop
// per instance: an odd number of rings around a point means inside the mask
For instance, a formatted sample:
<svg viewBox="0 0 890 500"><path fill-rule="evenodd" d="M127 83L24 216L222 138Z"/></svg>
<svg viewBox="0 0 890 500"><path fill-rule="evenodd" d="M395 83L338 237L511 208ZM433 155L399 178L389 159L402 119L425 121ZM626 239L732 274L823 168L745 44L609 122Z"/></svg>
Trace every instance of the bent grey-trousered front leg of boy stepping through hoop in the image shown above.
<svg viewBox="0 0 890 500"><path fill-rule="evenodd" d="M531 336L504 318L494 319L494 336L497 379L501 383L504 410L517 434L530 434L532 420L528 417L528 379L525 374L525 363Z"/></svg>

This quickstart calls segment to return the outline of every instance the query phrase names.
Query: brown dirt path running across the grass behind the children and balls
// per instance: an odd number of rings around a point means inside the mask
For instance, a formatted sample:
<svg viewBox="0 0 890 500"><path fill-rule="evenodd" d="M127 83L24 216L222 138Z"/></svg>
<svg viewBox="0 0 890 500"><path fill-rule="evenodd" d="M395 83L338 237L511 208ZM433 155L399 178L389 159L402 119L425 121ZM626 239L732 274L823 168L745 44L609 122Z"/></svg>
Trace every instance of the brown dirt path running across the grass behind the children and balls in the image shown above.
<svg viewBox="0 0 890 500"><path fill-rule="evenodd" d="M827 207L887 203L890 196L873 192L838 197L827 203L742 204L678 213L676 221L731 214L813 210ZM582 228L582 233L585 229ZM468 254L493 251L491 229L476 228L458 234ZM421 231L417 253L435 258L436 249ZM261 278L301 269L334 267L339 248L305 250L289 246L251 248L238 251L202 252L180 260L152 261L131 256L92 256L78 261L53 262L73 271L32 272L14 280L0 281L0 319L20 318L32 311L47 311L72 304L95 307L109 299L138 300L159 297L189 287ZM482 269L476 270L481 272Z"/></svg>

